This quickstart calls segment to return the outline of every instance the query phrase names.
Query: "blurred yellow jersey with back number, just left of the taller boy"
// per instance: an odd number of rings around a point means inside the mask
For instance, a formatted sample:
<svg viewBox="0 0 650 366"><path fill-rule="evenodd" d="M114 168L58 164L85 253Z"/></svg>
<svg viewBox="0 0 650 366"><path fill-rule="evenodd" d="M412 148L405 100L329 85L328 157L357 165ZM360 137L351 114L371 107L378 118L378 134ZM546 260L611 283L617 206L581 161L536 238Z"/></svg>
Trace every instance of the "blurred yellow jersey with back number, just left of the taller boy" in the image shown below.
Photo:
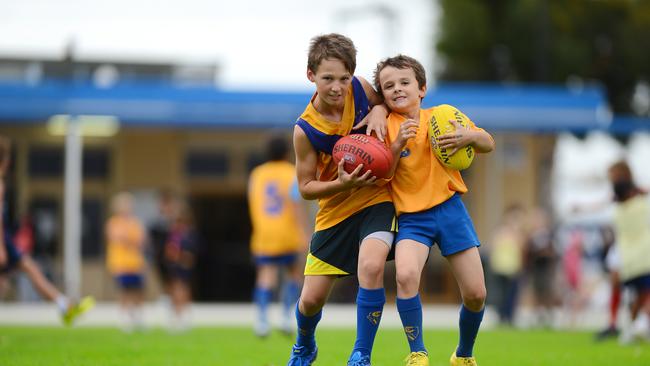
<svg viewBox="0 0 650 366"><path fill-rule="evenodd" d="M299 196L293 164L270 161L253 169L248 180L248 207L254 255L278 256L299 251L303 228L298 225L294 208Z"/></svg>

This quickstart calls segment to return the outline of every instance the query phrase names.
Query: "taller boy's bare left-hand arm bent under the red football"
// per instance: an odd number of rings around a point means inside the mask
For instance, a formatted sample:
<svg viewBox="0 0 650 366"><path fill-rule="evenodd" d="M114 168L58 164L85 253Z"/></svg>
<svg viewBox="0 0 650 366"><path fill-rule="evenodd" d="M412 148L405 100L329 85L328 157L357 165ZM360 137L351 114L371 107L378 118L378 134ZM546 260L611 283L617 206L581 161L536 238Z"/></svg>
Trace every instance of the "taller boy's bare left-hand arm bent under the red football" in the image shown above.
<svg viewBox="0 0 650 366"><path fill-rule="evenodd" d="M343 160L341 160L338 166L338 179L329 182L319 181L316 178L318 154L311 145L311 142L309 142L305 132L299 126L295 126L293 129L293 146L296 152L298 190L306 200L327 197L351 188L368 186L375 183L376 178L371 176L371 171L359 175L363 167L362 164L357 166L352 173L346 173L343 169Z"/></svg>

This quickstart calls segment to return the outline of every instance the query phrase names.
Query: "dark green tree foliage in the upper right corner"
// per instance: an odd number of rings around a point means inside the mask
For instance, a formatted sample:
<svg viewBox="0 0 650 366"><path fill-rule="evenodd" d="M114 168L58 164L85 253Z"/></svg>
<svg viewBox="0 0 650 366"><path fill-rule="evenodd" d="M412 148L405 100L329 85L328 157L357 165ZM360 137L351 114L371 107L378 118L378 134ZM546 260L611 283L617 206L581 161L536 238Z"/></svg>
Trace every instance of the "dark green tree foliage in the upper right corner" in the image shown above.
<svg viewBox="0 0 650 366"><path fill-rule="evenodd" d="M616 112L650 82L648 0L439 0L442 80L598 80Z"/></svg>

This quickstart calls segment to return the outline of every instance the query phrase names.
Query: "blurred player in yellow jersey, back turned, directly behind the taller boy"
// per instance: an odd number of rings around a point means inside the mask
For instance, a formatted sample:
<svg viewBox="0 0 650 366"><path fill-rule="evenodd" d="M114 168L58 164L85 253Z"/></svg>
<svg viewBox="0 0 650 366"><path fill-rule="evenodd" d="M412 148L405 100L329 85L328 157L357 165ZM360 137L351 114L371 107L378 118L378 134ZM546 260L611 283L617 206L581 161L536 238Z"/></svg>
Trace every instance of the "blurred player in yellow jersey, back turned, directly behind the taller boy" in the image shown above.
<svg viewBox="0 0 650 366"><path fill-rule="evenodd" d="M303 206L296 169L289 159L287 139L276 135L266 146L267 162L251 172L248 181L248 204L253 232L251 253L257 277L253 301L258 311L255 334L269 335L271 325L268 305L273 292L279 289L278 277L283 275L283 320L281 330L292 331L291 310L298 300L302 284L302 255L309 242L307 212ZM280 273L281 270L286 273Z"/></svg>

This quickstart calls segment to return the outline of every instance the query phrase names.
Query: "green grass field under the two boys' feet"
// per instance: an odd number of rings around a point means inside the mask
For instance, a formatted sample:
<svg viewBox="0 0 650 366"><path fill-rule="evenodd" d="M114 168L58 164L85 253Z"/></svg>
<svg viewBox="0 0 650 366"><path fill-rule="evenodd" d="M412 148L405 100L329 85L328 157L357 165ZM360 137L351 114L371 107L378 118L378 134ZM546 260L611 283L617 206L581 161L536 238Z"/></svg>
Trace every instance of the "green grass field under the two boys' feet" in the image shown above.
<svg viewBox="0 0 650 366"><path fill-rule="evenodd" d="M320 329L316 365L345 365L354 330ZM425 332L431 366L448 366L455 330ZM172 335L154 329L125 334L111 328L0 327L0 365L285 365L292 339L279 333L260 340L248 328L195 328ZM373 366L403 365L408 353L399 329L380 329ZM475 355L481 366L650 365L650 345L594 343L586 332L486 330Z"/></svg>

